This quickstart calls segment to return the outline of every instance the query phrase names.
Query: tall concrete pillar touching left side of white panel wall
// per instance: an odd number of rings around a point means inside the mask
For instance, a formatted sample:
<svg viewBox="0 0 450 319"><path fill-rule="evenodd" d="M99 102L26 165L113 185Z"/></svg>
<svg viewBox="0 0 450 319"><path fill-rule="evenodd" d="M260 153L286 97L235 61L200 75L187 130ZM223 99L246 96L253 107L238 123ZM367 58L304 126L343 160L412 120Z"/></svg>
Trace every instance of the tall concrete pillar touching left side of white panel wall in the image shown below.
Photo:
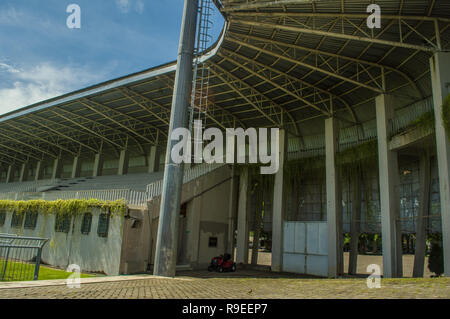
<svg viewBox="0 0 450 319"><path fill-rule="evenodd" d="M271 270L280 272L283 270L283 233L284 233L284 215L286 208L286 188L284 182L284 161L287 151L287 134L280 130L278 140L279 169L275 174L273 186L273 205L272 205L272 264Z"/></svg>

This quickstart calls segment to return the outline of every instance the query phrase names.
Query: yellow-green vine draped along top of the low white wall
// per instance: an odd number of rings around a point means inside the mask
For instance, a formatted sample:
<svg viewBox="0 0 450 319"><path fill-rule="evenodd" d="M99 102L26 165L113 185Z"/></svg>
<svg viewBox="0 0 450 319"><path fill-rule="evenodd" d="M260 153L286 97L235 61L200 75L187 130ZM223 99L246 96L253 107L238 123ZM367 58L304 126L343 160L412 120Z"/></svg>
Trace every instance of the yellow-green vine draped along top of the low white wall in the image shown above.
<svg viewBox="0 0 450 319"><path fill-rule="evenodd" d="M14 201L0 200L0 210L14 211L16 214L26 212L41 213L44 215L80 215L90 208L99 208L112 215L125 215L127 205L124 200L118 201L100 201L97 199L69 199L69 200L29 200Z"/></svg>

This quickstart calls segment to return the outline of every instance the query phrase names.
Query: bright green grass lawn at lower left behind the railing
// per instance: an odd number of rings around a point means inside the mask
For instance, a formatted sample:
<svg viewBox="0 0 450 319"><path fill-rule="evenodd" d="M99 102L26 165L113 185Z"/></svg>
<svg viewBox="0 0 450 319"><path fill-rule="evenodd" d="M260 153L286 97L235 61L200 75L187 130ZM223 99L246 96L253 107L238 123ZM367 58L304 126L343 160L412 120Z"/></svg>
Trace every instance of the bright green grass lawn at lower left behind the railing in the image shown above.
<svg viewBox="0 0 450 319"><path fill-rule="evenodd" d="M0 260L0 282L1 281L30 281L34 277L34 264L8 262L8 270L2 280L5 262ZM39 280L67 279L72 273L64 270L40 266ZM95 275L81 274L81 278L95 277Z"/></svg>

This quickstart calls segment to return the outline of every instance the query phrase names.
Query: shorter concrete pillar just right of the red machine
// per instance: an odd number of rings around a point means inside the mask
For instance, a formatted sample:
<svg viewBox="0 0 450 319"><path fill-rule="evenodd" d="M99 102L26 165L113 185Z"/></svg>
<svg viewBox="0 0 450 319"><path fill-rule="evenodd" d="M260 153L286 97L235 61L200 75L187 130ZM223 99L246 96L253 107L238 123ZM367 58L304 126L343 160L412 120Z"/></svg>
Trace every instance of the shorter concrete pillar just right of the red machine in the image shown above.
<svg viewBox="0 0 450 319"><path fill-rule="evenodd" d="M250 175L248 167L242 167L239 177L238 225L236 240L236 263L248 263L248 219Z"/></svg>

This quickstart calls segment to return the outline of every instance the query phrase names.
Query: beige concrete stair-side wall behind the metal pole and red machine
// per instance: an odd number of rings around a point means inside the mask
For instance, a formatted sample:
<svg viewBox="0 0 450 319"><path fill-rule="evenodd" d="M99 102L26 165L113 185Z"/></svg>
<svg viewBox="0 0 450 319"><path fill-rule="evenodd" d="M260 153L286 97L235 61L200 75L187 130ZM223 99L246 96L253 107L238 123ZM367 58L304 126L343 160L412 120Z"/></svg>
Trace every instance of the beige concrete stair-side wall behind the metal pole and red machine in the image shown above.
<svg viewBox="0 0 450 319"><path fill-rule="evenodd" d="M180 220L179 264L205 268L211 258L226 253L231 168L225 166L183 186L181 203L186 204L186 220ZM149 202L152 224L149 260L153 264L159 219L159 198ZM183 226L184 225L184 226ZM209 239L217 246L209 247Z"/></svg>

